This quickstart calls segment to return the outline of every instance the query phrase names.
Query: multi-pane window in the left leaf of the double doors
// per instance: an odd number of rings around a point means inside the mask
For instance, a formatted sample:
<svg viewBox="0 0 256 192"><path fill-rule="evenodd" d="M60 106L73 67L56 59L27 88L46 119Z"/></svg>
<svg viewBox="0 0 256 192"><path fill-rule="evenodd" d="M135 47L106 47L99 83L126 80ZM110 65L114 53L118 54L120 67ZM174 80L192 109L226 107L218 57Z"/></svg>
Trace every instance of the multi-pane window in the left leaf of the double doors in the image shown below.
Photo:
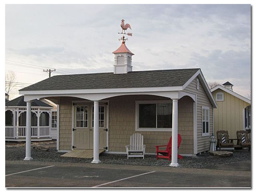
<svg viewBox="0 0 256 192"><path fill-rule="evenodd" d="M88 127L88 107L76 107L76 127Z"/></svg>

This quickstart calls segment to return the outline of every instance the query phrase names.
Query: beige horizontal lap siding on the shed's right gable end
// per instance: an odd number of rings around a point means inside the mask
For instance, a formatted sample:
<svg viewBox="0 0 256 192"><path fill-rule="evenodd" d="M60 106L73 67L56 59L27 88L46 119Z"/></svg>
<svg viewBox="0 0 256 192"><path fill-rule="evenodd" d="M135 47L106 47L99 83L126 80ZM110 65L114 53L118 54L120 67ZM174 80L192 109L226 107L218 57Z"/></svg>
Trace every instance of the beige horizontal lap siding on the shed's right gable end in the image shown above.
<svg viewBox="0 0 256 192"><path fill-rule="evenodd" d="M196 78L184 89L185 92L196 94L197 101L197 146L198 153L208 151L210 149L210 135L213 132L213 107L208 96L200 82L200 89L196 89ZM202 106L209 107L209 136L202 136Z"/></svg>

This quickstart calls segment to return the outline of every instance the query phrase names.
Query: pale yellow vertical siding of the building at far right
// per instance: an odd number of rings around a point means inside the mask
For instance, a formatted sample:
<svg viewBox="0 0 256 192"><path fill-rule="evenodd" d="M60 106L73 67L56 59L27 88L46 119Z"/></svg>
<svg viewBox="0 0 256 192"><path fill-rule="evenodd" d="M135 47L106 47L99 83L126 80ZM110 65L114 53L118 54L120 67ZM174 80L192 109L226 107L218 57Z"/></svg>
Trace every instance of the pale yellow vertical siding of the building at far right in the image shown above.
<svg viewBox="0 0 256 192"><path fill-rule="evenodd" d="M217 101L218 108L214 109L215 135L218 130L227 130L230 138L235 139L236 131L243 130L243 110L250 104L220 89L212 93L215 99L217 92L224 93L224 101Z"/></svg>

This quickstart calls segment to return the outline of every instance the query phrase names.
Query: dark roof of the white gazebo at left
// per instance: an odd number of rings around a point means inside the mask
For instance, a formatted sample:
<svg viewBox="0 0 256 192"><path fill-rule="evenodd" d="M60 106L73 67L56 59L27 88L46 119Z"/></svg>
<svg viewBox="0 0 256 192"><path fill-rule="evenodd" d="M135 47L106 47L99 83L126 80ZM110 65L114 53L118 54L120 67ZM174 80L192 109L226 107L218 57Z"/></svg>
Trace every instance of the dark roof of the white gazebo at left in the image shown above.
<svg viewBox="0 0 256 192"><path fill-rule="evenodd" d="M26 107L27 103L24 102L24 96L20 96L16 99L6 102L5 106L24 106L24 107ZM40 100L37 100L37 99L35 99L31 102L31 106L32 107L52 107L52 106L50 106Z"/></svg>

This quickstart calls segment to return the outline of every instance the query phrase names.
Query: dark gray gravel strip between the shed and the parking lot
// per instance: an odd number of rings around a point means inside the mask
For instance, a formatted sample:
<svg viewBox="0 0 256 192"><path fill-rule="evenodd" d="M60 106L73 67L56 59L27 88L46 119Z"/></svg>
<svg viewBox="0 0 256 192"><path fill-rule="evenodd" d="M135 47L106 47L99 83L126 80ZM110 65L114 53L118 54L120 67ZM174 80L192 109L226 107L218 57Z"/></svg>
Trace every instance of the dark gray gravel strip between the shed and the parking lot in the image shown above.
<svg viewBox="0 0 256 192"><path fill-rule="evenodd" d="M25 147L16 147L13 149L7 149L6 160L23 160L25 155ZM251 159L251 152L247 150L232 150L233 156L231 157L214 157L208 153L197 155L196 157L184 157L179 159L178 163L180 167L184 168L205 168L215 165L237 163L240 161L247 161ZM40 149L32 149L31 156L32 161L44 161L44 162L72 162L72 163L90 163L92 159L70 158L60 157L64 153L56 151L56 148L51 147L49 151L43 151ZM144 165L144 166L169 166L170 162L166 159L156 160L156 155L145 155L145 159L132 158L127 159L126 155L113 155L113 154L101 154L100 161L104 164L115 165Z"/></svg>

